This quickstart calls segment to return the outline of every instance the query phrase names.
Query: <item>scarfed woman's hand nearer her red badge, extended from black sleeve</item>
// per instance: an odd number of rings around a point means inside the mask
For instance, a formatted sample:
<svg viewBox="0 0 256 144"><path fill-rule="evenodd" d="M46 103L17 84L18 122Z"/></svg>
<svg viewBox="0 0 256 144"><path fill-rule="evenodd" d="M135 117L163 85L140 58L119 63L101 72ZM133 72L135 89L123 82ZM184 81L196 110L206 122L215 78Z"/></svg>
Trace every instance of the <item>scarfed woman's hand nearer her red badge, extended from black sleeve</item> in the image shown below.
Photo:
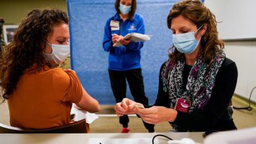
<svg viewBox="0 0 256 144"><path fill-rule="evenodd" d="M158 124L160 122L173 122L177 117L175 109L168 109L166 107L154 106L148 109L136 108L135 113L139 115L144 122L149 124Z"/></svg>

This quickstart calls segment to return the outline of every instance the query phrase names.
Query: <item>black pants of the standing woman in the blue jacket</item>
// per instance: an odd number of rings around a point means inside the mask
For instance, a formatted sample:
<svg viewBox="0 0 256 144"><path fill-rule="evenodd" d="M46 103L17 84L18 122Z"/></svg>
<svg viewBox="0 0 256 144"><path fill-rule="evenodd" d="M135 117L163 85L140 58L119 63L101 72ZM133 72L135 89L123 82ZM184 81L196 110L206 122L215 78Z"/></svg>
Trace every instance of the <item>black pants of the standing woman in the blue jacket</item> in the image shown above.
<svg viewBox="0 0 256 144"><path fill-rule="evenodd" d="M126 79L131 90L131 95L136 102L148 105L148 98L145 96L144 83L141 69L131 69L129 71L113 71L108 69L110 82L113 94L116 98L116 103L119 103L126 98ZM120 124L124 128L128 127L129 118L127 115L119 117ZM154 132L154 124L148 124L143 121L148 132Z"/></svg>

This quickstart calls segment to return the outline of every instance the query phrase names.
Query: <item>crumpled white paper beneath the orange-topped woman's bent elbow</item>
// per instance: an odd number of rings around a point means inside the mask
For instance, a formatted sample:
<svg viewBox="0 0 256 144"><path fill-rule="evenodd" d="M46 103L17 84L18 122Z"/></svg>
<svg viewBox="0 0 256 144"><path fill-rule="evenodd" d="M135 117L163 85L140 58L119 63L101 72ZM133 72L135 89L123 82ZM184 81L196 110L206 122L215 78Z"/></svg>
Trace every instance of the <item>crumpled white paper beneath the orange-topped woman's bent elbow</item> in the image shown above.
<svg viewBox="0 0 256 144"><path fill-rule="evenodd" d="M88 111L76 109L74 105L72 105L70 114L75 114L74 121L85 119L87 124L91 124L98 118L95 113L89 113Z"/></svg>

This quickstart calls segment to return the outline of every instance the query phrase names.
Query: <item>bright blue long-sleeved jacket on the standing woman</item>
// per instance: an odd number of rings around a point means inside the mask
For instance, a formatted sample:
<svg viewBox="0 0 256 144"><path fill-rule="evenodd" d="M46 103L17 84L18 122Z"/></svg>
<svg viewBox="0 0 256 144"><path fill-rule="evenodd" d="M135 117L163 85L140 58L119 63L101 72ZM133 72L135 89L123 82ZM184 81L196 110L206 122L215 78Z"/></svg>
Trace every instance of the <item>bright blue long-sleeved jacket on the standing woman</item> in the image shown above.
<svg viewBox="0 0 256 144"><path fill-rule="evenodd" d="M118 21L119 29L111 29L110 22ZM140 14L135 14L133 20L127 19L125 22L121 20L119 14L115 14L109 18L104 28L103 48L106 52L110 52L108 57L108 68L114 71L127 71L130 69L140 68L140 48L143 42L133 42L126 45L126 50L117 53L116 48L113 47L112 34L127 35L127 33L145 33L144 20Z"/></svg>

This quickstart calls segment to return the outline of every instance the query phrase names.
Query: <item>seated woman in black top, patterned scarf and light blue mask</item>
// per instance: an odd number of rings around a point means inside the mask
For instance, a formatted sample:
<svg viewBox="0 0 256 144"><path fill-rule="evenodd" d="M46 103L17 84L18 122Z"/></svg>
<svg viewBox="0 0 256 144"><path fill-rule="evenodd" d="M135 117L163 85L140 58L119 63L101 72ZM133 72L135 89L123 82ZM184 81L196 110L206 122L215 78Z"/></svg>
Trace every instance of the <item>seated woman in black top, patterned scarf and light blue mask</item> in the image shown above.
<svg viewBox="0 0 256 144"><path fill-rule="evenodd" d="M154 106L130 99L116 104L118 116L136 113L150 124L168 121L175 132L236 129L228 114L238 70L226 58L213 13L199 0L173 5L167 26L173 32L169 60L160 69Z"/></svg>

